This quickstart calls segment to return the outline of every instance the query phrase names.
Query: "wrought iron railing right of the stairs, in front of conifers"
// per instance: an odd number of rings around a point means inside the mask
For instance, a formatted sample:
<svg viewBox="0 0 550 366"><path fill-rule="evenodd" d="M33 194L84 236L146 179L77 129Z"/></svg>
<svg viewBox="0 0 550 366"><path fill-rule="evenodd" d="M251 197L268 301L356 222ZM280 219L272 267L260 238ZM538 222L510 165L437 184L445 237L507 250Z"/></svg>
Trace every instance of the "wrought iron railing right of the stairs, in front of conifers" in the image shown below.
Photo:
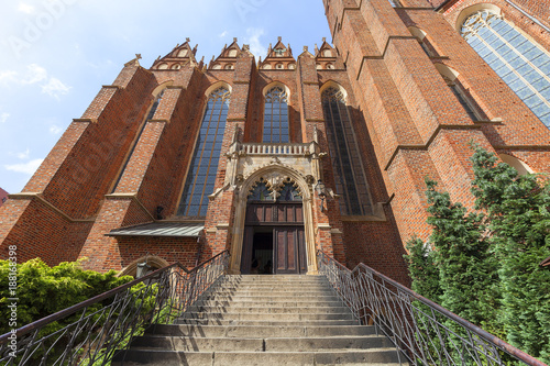
<svg viewBox="0 0 550 366"><path fill-rule="evenodd" d="M375 325L411 365L546 366L364 264L350 270L321 251L318 264L354 317Z"/></svg>

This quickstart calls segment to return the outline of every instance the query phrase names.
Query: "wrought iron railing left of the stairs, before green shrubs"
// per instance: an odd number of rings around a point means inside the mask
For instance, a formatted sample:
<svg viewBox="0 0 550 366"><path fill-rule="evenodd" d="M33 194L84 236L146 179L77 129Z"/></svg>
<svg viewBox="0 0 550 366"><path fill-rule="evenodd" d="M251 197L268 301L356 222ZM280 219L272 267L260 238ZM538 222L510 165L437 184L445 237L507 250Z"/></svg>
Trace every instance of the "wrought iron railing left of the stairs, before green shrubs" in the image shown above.
<svg viewBox="0 0 550 366"><path fill-rule="evenodd" d="M3 334L0 364L109 364L145 328L179 317L228 264L227 251L191 270L176 263L18 329L14 342L11 333Z"/></svg>

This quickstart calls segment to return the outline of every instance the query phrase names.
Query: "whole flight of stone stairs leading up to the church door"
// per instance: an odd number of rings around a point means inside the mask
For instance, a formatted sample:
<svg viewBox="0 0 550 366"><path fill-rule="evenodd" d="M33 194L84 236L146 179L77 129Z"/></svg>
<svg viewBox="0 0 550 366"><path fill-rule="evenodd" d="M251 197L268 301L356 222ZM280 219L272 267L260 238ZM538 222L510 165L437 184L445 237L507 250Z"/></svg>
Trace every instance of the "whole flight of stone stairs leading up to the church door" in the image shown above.
<svg viewBox="0 0 550 366"><path fill-rule="evenodd" d="M250 275L223 277L112 363L141 364L389 366L399 357L373 326L359 325L324 277Z"/></svg>

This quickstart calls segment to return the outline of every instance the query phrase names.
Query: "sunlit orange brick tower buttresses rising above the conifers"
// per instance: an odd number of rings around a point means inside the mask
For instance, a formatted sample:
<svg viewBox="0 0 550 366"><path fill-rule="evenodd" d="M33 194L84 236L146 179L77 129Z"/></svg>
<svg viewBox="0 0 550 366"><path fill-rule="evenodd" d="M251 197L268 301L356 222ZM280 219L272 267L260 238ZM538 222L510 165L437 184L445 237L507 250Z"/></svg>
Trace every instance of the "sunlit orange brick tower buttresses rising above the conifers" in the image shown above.
<svg viewBox="0 0 550 366"><path fill-rule="evenodd" d="M326 3L385 189L395 193L392 209L403 241L429 235L425 176L439 180L440 189L452 199L472 206L469 142L496 151L510 146L529 165L540 167L546 162L543 170L548 170L550 164L541 152L548 151L548 129L468 46L449 19L426 3L424 9L393 9L386 0L363 1L360 8L350 1ZM421 5L420 1L403 3ZM427 32L438 57L428 57L407 26ZM502 123L471 121L435 63L459 71L460 81L484 112Z"/></svg>

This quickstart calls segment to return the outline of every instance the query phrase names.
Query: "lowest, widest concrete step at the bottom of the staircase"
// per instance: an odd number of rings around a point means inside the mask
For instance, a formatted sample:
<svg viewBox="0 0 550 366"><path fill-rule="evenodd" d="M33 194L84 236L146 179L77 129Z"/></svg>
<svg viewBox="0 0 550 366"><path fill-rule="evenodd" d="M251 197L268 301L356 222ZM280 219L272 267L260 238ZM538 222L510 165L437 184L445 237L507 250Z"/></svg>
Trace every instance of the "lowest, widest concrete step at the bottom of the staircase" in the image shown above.
<svg viewBox="0 0 550 366"><path fill-rule="evenodd" d="M114 356L111 365L121 365L124 353ZM402 357L402 359L404 359ZM184 352L167 350L130 350L124 366L273 366L273 365L370 365L397 366L395 348L345 350L328 352ZM403 364L402 364L403 365Z"/></svg>

